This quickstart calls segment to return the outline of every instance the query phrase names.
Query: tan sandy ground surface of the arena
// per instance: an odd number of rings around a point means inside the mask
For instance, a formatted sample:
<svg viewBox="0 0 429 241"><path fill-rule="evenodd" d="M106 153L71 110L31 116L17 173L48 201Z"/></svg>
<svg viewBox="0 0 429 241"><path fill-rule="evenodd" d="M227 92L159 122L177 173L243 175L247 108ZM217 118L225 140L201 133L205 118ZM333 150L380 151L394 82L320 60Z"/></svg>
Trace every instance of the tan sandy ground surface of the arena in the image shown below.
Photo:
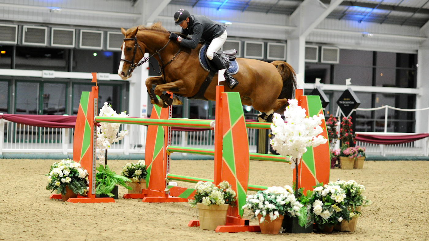
<svg viewBox="0 0 429 241"><path fill-rule="evenodd" d="M188 227L189 220L198 216L187 203L144 203L121 197L115 203L51 200L51 193L45 190L45 174L55 161L59 160L0 159L0 240L429 241L428 161L366 161L361 170L331 170L331 181L353 179L366 187L366 196L372 200L371 206L363 208L356 231L279 235L215 233ZM109 166L119 173L127 162L112 160ZM250 166L251 184L292 184L288 164L251 161ZM171 173L212 179L213 161L173 160ZM120 196L125 192L124 187L119 188Z"/></svg>

